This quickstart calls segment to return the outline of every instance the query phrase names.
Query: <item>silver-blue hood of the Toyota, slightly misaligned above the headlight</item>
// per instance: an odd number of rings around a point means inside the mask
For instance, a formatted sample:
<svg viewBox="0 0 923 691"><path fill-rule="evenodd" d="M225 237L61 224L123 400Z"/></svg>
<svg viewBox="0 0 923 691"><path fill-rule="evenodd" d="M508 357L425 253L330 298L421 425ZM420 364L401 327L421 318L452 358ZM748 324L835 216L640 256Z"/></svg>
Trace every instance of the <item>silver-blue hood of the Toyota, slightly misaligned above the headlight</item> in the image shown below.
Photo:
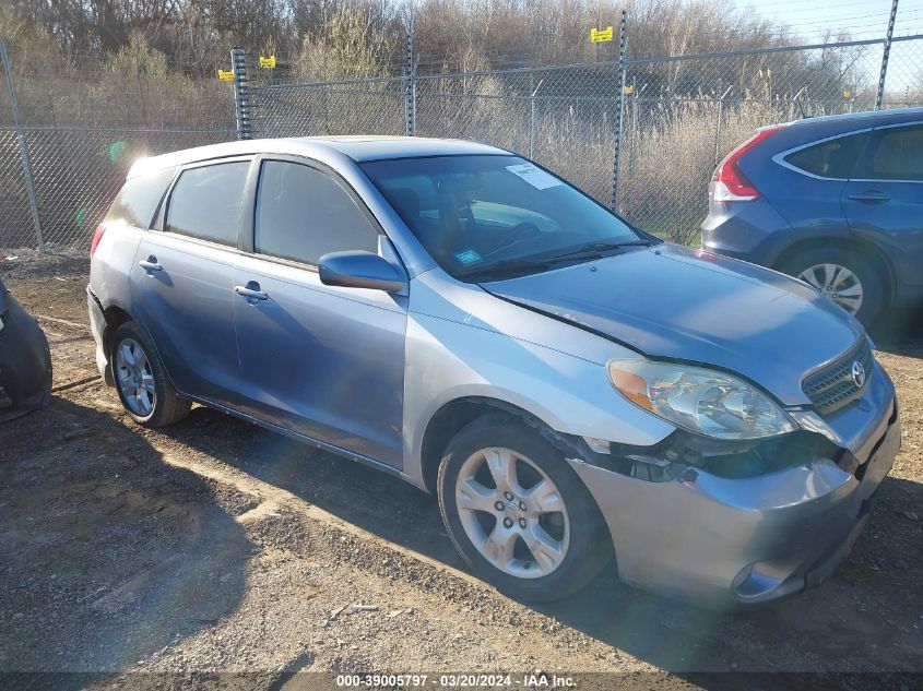
<svg viewBox="0 0 923 691"><path fill-rule="evenodd" d="M798 281L668 243L482 287L649 357L737 372L786 405L809 403L804 376L864 336Z"/></svg>

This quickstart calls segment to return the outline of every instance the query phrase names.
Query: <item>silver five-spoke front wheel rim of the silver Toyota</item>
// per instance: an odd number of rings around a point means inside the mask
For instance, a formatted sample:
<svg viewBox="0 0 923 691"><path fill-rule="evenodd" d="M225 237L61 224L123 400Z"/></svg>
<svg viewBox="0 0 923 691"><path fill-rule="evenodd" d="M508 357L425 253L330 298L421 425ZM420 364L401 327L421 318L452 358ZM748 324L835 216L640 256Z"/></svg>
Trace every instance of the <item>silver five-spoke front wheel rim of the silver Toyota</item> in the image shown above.
<svg viewBox="0 0 923 691"><path fill-rule="evenodd" d="M557 569L570 545L558 488L528 457L489 446L459 470L455 504L468 538L492 565L520 579Z"/></svg>

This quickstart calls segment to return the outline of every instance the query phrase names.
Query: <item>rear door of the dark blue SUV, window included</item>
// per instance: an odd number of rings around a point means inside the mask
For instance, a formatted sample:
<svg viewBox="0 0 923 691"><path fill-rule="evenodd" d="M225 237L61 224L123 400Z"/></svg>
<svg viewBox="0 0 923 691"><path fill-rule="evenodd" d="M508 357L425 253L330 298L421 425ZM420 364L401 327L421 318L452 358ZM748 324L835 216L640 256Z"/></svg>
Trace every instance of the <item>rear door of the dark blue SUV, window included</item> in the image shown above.
<svg viewBox="0 0 923 691"><path fill-rule="evenodd" d="M841 201L850 229L887 251L898 279L923 284L923 123L875 129Z"/></svg>

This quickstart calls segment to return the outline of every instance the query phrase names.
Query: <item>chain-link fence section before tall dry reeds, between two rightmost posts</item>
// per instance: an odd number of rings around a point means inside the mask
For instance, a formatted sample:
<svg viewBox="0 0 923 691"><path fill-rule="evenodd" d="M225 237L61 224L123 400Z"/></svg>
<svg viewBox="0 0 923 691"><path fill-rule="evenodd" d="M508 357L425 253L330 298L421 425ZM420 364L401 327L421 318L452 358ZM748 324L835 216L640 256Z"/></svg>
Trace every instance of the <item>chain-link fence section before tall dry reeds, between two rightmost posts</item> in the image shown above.
<svg viewBox="0 0 923 691"><path fill-rule="evenodd" d="M909 56L923 56L923 41L910 45ZM708 214L709 179L725 155L767 124L873 110L880 55L880 41L852 41L629 60L619 212L691 242Z"/></svg>

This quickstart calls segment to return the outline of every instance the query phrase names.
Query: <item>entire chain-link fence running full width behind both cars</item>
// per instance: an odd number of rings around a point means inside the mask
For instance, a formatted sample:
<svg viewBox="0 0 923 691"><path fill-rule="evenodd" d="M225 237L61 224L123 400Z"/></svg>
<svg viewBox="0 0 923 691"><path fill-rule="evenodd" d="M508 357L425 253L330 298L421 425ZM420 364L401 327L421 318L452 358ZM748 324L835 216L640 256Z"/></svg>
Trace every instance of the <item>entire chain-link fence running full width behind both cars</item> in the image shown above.
<svg viewBox="0 0 923 691"><path fill-rule="evenodd" d="M485 141L689 243L714 167L756 128L876 107L885 45L651 57L629 40L619 61L423 74L410 49L400 74L312 83L260 70L259 56L239 50L234 84L140 69L150 62L141 52L122 56L111 74L81 74L76 85L60 65L17 72L7 61L0 248L85 248L141 156L235 136L333 134ZM877 105L923 106L923 36L894 39Z"/></svg>

